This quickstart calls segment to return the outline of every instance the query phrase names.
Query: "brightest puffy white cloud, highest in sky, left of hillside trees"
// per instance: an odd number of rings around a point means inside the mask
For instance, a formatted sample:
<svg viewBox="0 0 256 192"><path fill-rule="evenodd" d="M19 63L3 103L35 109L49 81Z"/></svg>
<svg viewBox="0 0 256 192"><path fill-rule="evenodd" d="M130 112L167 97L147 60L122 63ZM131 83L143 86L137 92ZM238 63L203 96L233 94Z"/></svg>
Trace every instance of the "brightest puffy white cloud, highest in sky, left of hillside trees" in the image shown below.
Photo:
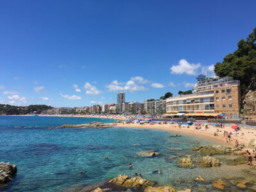
<svg viewBox="0 0 256 192"><path fill-rule="evenodd" d="M196 75L198 68L201 67L200 63L189 63L186 60L180 60L178 65L173 65L170 70L171 74L188 74L188 75Z"/></svg>

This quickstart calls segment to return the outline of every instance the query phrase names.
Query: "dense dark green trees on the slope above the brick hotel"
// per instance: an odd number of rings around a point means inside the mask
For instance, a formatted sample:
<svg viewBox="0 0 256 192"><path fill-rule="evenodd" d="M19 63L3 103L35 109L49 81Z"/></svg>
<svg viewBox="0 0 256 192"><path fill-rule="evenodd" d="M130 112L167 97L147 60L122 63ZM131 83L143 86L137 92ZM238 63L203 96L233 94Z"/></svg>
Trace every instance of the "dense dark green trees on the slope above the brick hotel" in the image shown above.
<svg viewBox="0 0 256 192"><path fill-rule="evenodd" d="M256 79L256 28L246 38L237 44L237 50L228 54L222 63L216 63L214 72L220 76L230 76L239 79L241 93Z"/></svg>

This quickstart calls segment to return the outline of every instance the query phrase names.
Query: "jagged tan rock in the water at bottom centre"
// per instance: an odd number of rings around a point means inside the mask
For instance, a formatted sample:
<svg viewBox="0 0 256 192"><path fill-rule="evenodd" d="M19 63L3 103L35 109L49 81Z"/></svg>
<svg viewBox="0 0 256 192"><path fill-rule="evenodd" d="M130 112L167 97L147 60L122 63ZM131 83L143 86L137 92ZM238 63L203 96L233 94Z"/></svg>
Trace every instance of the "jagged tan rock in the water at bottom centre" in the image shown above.
<svg viewBox="0 0 256 192"><path fill-rule="evenodd" d="M143 179L141 177L130 178L127 175L118 175L116 178L109 180L109 183L116 184L125 188L146 188L147 186L154 186L155 182Z"/></svg>

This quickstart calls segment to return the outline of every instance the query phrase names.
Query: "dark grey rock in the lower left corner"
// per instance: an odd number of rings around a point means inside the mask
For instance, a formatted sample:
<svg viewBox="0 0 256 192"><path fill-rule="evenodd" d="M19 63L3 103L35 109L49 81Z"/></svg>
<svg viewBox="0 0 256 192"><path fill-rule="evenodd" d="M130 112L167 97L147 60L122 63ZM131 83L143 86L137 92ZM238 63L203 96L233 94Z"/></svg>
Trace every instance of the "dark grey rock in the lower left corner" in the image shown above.
<svg viewBox="0 0 256 192"><path fill-rule="evenodd" d="M0 163L0 184L7 184L17 173L17 166L10 163Z"/></svg>

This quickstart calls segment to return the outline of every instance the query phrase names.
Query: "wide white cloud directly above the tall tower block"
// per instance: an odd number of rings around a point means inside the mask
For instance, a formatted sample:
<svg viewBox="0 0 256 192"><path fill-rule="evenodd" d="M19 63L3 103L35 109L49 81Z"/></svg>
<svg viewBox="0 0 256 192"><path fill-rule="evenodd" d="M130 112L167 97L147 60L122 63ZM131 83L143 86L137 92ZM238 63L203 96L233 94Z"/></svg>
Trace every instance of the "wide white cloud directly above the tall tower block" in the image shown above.
<svg viewBox="0 0 256 192"><path fill-rule="evenodd" d="M106 85L109 92L118 92L118 91L128 91L128 92L136 92L147 90L145 86L142 84L147 83L147 79L143 79L143 77L131 77L131 80L126 83L118 82L117 80L112 81L110 84Z"/></svg>

